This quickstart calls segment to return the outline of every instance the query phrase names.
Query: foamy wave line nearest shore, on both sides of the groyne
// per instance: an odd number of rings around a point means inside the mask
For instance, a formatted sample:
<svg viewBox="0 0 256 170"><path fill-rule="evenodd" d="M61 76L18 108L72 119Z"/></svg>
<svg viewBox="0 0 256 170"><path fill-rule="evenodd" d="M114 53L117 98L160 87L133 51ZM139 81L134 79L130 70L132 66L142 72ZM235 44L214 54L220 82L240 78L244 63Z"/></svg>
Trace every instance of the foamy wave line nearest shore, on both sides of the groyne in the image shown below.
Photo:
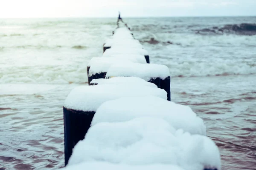
<svg viewBox="0 0 256 170"><path fill-rule="evenodd" d="M158 61L157 64L164 64L168 66L171 77L256 74L256 66L250 66L250 63L241 63L239 61L232 60L217 60L204 63L198 61L187 61L181 63L177 61ZM86 64L83 64L82 66L6 66L0 68L0 84L80 84L86 82Z"/></svg>

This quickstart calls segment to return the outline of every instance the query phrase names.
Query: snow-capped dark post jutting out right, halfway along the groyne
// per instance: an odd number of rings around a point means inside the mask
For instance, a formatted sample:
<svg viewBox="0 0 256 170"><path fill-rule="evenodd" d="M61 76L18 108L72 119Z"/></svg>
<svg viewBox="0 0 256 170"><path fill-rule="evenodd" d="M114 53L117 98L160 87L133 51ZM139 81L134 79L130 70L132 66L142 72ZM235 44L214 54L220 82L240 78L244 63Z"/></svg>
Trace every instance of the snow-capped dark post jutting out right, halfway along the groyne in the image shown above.
<svg viewBox="0 0 256 170"><path fill-rule="evenodd" d="M120 76L138 77L154 83L157 87L167 92L167 98L171 101L171 78L169 69L165 65L141 63L114 64L108 69L105 78Z"/></svg>

